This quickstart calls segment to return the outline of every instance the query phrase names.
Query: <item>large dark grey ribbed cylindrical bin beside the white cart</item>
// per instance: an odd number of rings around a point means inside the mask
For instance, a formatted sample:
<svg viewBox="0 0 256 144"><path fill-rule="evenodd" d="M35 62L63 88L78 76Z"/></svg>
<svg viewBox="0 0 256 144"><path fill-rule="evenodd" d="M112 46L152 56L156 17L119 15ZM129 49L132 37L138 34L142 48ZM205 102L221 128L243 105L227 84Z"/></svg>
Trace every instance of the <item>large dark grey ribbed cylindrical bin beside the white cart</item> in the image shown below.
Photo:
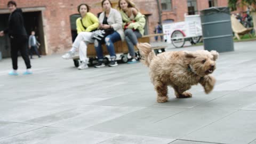
<svg viewBox="0 0 256 144"><path fill-rule="evenodd" d="M200 14L203 31L204 49L218 52L234 51L228 7L211 7Z"/></svg>

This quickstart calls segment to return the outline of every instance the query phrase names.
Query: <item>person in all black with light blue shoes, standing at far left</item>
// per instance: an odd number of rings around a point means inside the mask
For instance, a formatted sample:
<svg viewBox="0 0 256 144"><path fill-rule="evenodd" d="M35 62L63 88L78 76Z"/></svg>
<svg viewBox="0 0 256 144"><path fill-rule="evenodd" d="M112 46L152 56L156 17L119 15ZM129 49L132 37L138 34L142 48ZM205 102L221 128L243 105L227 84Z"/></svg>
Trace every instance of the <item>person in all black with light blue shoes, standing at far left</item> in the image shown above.
<svg viewBox="0 0 256 144"><path fill-rule="evenodd" d="M21 9L17 9L17 4L14 1L9 1L7 7L11 12L8 19L8 28L0 31L0 36L4 36L9 33L11 41L11 57L12 68L9 75L18 75L18 51L20 51L23 60L26 63L27 70L24 75L32 74L30 59L28 54L28 35L24 26L24 19Z"/></svg>

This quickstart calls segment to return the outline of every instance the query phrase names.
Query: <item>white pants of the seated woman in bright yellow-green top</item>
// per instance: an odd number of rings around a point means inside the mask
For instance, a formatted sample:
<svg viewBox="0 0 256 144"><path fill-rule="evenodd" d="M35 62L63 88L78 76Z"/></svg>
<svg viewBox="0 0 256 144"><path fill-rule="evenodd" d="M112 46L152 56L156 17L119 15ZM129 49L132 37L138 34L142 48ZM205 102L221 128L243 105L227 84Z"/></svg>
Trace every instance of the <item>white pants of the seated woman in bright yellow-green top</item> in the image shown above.
<svg viewBox="0 0 256 144"><path fill-rule="evenodd" d="M91 32L81 32L77 35L75 42L72 45L70 51L75 52L79 49L79 59L81 61L87 60L87 45L94 43L94 39L91 38Z"/></svg>

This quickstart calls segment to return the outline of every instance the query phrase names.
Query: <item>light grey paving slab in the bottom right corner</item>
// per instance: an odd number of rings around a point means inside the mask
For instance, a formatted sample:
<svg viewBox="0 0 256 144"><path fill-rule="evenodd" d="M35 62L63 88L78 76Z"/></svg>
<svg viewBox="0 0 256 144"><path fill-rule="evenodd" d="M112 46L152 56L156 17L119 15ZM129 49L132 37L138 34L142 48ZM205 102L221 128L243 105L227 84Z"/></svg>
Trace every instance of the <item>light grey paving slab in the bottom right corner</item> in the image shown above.
<svg viewBox="0 0 256 144"><path fill-rule="evenodd" d="M256 111L237 111L218 122L188 134L182 139L243 144L256 139Z"/></svg>

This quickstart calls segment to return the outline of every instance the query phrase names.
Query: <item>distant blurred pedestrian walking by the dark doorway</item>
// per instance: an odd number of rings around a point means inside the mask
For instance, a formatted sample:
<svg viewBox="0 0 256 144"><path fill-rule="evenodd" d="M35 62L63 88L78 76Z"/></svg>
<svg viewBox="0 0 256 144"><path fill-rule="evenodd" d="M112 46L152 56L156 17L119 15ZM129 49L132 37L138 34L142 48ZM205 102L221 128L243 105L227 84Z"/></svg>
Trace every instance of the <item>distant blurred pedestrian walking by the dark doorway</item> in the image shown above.
<svg viewBox="0 0 256 144"><path fill-rule="evenodd" d="M40 43L36 40L35 31L31 31L31 35L28 39L28 47L30 49L30 59L33 59L33 51L36 52L38 58L41 58L41 56L38 53L38 47L40 46Z"/></svg>

